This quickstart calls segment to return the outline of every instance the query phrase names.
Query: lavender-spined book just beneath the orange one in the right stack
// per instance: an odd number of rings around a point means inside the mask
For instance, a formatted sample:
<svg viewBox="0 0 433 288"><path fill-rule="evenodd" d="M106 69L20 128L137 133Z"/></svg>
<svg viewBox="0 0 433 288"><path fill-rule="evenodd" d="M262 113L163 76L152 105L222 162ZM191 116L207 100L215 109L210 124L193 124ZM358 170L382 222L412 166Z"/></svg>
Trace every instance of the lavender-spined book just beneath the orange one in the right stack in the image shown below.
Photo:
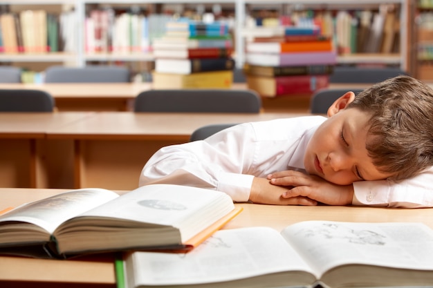
<svg viewBox="0 0 433 288"><path fill-rule="evenodd" d="M335 51L322 52L286 52L286 53L246 53L246 62L261 66L300 66L300 65L335 65Z"/></svg>

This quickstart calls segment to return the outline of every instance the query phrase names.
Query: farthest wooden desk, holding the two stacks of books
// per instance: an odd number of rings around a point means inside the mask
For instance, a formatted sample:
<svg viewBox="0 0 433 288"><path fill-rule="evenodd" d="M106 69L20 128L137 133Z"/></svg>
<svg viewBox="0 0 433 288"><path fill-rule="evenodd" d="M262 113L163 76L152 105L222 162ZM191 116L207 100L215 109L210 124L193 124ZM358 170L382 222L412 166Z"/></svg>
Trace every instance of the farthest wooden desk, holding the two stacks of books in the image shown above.
<svg viewBox="0 0 433 288"><path fill-rule="evenodd" d="M367 88L369 84L331 84L330 88ZM132 111L138 93L151 89L151 83L66 83L66 84L0 84L0 89L45 90L55 98L59 111ZM246 89L234 83L232 89ZM307 113L311 94L286 97L262 97L266 112Z"/></svg>

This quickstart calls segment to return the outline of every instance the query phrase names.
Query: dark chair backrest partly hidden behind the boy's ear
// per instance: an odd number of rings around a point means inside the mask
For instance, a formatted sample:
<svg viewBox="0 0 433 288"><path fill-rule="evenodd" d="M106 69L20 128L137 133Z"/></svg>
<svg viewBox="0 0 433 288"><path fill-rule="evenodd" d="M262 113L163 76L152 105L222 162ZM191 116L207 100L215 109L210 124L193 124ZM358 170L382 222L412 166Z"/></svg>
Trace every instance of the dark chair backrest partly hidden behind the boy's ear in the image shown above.
<svg viewBox="0 0 433 288"><path fill-rule="evenodd" d="M338 97L352 91L355 95L358 95L362 89L331 89L324 88L317 90L310 99L310 112L313 114L326 114L329 106L338 99Z"/></svg>

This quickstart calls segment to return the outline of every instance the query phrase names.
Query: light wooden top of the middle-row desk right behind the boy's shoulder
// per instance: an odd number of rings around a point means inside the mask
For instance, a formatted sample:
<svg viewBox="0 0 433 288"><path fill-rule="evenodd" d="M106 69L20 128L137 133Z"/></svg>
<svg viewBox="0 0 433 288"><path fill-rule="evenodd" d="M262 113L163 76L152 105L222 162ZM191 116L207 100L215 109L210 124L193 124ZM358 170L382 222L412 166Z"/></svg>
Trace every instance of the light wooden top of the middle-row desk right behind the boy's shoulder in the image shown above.
<svg viewBox="0 0 433 288"><path fill-rule="evenodd" d="M50 128L47 135L51 139L155 140L158 138L187 141L196 128L208 124L256 122L304 115L310 114L99 112L79 122Z"/></svg>

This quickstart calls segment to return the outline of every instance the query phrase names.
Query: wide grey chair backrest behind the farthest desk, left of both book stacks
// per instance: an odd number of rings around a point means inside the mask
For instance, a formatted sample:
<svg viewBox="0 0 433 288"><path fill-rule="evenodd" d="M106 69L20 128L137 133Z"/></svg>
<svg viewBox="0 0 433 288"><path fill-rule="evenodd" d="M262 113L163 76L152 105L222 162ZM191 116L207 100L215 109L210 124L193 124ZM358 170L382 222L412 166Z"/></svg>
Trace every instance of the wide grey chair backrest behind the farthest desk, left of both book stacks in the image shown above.
<svg viewBox="0 0 433 288"><path fill-rule="evenodd" d="M45 70L46 83L125 83L131 81L129 69L120 66L64 67Z"/></svg>

